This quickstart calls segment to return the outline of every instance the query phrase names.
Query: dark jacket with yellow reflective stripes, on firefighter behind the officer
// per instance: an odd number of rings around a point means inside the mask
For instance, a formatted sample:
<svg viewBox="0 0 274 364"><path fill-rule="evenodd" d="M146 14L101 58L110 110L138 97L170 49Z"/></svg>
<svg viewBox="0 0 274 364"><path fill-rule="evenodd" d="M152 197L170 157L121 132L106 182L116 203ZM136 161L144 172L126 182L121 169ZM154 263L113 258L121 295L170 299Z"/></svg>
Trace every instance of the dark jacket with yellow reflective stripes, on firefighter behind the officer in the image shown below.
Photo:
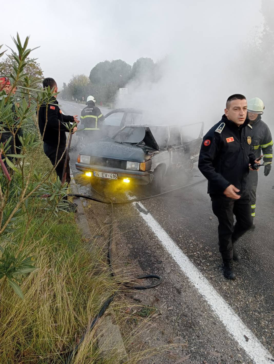
<svg viewBox="0 0 274 364"><path fill-rule="evenodd" d="M256 158L259 158L263 154L264 164L271 163L273 157L273 140L269 127L261 120L261 115L258 116L251 126L253 134L252 145Z"/></svg>

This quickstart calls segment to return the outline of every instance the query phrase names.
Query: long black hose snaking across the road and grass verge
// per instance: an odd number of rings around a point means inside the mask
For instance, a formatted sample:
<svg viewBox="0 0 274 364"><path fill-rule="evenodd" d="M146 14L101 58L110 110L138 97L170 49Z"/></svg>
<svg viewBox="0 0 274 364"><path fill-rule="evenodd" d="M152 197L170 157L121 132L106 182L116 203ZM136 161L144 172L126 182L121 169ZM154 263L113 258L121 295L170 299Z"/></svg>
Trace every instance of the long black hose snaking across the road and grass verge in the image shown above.
<svg viewBox="0 0 274 364"><path fill-rule="evenodd" d="M173 190L169 190L169 191L166 191L166 192L163 192L163 193L159 193L159 194L154 195L154 196L134 198L134 199L126 200L126 201L112 201L112 199L110 197L96 191L94 189L94 187L92 187L91 183L90 183L90 186L91 186L92 190L94 190L97 194L101 195L103 198L108 199L109 201L100 200L98 198L94 198L94 197L91 197L91 196L88 196L88 195L77 194L77 193L76 194L75 193L70 193L70 194L68 194L68 196L86 198L86 199L89 199L89 200L92 200L92 201L95 201L95 202L107 203L107 204L111 205L111 227L110 227L110 236L109 236L109 239L108 239L107 258L108 258L108 265L110 266L111 275L113 277L115 277L114 270L112 269L112 257L111 257L112 244L113 244L113 227L114 227L114 208L113 208L113 205L126 205L128 203L132 203L132 202L136 202L136 201L143 201L143 200L159 197L159 196L165 195L167 193L177 191L177 190L189 187L189 186L198 185L199 183L204 182L204 181L206 181L206 179L202 179L201 181L198 181L198 182L189 183L188 185L180 186L180 187L177 187L177 188L175 188ZM160 285L162 283L162 281L163 281L163 278L156 275L156 274L146 274L144 276L139 276L139 277L135 278L134 280L149 279L149 278L155 278L157 280L157 282L154 283L154 284L151 284L151 285L146 285L146 286L132 286L132 285L127 284L127 283L121 283L121 286L123 286L125 288L136 289L136 290L150 289L150 288L155 288L156 286ZM66 364L71 364L71 360L74 358L76 352L78 351L79 345L83 342L83 340L84 340L85 336L87 335L87 333L90 332L94 328L94 325L99 320L99 318L103 316L104 312L106 312L108 306L114 300L114 297L116 296L116 294L117 293L112 294L112 296L110 298L108 298L107 301L104 302L104 304L100 308L99 313L92 320L91 325L87 328L86 332L83 333L83 335L81 336L81 338L79 340L79 343L70 352L67 360L65 361Z"/></svg>

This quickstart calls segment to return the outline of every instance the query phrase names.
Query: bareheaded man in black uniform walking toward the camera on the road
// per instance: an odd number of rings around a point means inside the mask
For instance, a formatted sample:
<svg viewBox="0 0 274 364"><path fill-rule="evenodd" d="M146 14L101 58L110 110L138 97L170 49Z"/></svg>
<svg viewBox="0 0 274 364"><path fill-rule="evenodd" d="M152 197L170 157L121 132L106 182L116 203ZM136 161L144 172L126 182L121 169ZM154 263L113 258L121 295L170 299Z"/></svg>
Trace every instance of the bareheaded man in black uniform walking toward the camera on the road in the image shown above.
<svg viewBox="0 0 274 364"><path fill-rule="evenodd" d="M256 161L251 145L251 127L246 119L243 95L230 96L225 115L203 138L198 167L208 179L213 213L219 221L219 250L225 278L235 279L233 259L240 260L234 244L252 226L247 175ZM236 224L234 224L234 217Z"/></svg>

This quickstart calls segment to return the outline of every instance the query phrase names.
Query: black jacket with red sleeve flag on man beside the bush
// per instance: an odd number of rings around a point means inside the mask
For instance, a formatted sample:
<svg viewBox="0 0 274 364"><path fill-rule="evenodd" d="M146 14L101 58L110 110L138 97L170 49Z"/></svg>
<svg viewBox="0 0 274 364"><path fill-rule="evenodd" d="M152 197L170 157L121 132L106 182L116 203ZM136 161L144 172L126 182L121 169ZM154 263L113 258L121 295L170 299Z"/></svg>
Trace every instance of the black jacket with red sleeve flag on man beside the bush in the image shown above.
<svg viewBox="0 0 274 364"><path fill-rule="evenodd" d="M46 110L47 124L46 124ZM48 145L57 148L65 148L67 137L65 132L68 132L65 124L71 128L71 123L74 123L74 117L70 115L63 115L58 106L58 101L54 100L48 107L42 104L38 112L38 124L43 141ZM44 131L45 130L45 131ZM60 138L59 138L60 134Z"/></svg>

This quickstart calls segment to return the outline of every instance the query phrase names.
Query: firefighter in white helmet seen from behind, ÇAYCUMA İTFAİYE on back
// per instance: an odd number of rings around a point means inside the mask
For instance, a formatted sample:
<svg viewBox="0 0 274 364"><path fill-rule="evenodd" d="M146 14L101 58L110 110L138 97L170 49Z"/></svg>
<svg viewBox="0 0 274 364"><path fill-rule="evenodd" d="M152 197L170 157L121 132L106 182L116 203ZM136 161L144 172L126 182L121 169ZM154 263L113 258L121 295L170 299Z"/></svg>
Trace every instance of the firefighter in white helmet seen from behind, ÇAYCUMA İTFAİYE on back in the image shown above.
<svg viewBox="0 0 274 364"><path fill-rule="evenodd" d="M99 107L95 106L96 100L93 96L88 96L86 105L81 111L81 126L84 126L82 131L83 143L91 143L99 137L99 130L104 115Z"/></svg>

